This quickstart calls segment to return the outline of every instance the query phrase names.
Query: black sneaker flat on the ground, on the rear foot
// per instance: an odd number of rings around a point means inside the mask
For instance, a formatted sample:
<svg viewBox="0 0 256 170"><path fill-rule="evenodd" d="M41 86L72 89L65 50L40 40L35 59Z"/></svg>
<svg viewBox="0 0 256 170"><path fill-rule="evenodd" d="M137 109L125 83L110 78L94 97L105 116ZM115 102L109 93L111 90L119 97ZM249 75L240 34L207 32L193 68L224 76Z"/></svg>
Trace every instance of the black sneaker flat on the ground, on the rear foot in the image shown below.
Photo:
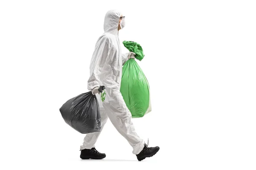
<svg viewBox="0 0 256 170"><path fill-rule="evenodd" d="M80 155L81 159L103 159L105 157L106 157L106 154L98 152L95 149L95 147L93 147L91 149L81 150L81 155Z"/></svg>

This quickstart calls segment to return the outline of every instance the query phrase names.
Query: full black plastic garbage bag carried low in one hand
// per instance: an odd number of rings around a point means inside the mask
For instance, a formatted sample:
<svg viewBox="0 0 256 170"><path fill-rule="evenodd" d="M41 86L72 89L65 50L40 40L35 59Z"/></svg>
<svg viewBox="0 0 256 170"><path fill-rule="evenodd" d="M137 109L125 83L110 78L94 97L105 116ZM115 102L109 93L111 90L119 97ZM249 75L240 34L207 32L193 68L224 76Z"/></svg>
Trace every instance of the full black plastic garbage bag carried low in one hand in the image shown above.
<svg viewBox="0 0 256 170"><path fill-rule="evenodd" d="M101 130L99 103L92 91L69 99L59 110L64 121L80 133Z"/></svg>

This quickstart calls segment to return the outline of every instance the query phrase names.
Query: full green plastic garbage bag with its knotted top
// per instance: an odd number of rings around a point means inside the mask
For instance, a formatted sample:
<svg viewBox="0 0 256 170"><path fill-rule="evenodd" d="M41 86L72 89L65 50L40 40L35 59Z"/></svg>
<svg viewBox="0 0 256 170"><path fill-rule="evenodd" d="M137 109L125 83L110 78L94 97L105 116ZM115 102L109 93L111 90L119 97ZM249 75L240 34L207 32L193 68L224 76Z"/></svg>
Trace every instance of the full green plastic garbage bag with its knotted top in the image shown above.
<svg viewBox="0 0 256 170"><path fill-rule="evenodd" d="M140 44L133 41L124 41L123 44L136 54L136 59L142 60L145 56ZM122 68L120 92L133 118L143 117L151 111L148 80L135 59L128 59Z"/></svg>

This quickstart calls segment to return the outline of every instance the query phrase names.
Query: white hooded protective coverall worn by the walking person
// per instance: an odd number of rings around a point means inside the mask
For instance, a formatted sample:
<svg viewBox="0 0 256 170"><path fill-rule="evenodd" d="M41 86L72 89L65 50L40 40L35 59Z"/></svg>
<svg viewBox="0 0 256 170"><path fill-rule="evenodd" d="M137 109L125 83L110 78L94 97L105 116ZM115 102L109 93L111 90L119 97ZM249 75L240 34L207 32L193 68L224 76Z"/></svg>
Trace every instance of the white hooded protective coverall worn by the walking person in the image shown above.
<svg viewBox="0 0 256 170"><path fill-rule="evenodd" d="M122 65L128 60L128 53L122 54L118 37L118 24L121 12L110 10L105 15L104 31L96 42L93 57L90 62L90 78L88 90L100 85L105 86L105 101L100 100L101 94L95 94L100 106L102 129L109 118L118 132L127 139L133 147L133 153L138 154L144 147L144 141L135 132L131 122L131 112L127 108L120 93ZM100 132L88 133L80 149L95 147Z"/></svg>

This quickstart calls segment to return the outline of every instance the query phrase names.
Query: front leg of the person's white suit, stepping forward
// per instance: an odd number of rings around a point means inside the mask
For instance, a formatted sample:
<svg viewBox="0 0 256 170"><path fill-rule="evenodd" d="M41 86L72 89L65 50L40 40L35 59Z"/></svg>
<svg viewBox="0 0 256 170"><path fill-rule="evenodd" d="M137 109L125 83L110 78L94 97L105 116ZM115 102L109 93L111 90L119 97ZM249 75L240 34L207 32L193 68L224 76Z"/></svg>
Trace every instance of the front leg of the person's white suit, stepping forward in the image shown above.
<svg viewBox="0 0 256 170"><path fill-rule="evenodd" d="M103 107L108 114L109 119L116 130L127 139L133 147L134 154L140 153L144 148L143 139L135 132L134 125L131 122L131 112L127 108L120 91L106 88L106 100Z"/></svg>

